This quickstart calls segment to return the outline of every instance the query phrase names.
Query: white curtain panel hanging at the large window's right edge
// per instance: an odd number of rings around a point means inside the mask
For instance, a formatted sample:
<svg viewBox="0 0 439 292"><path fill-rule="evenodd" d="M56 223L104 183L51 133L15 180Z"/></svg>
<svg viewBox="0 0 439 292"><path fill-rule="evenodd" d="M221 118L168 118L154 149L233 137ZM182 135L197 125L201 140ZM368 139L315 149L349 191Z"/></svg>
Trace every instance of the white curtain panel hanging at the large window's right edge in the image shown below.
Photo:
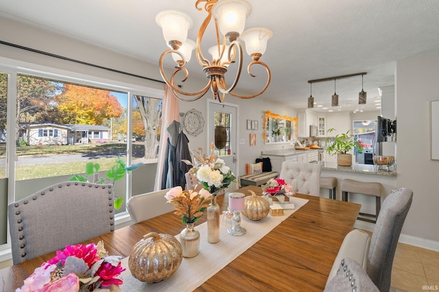
<svg viewBox="0 0 439 292"><path fill-rule="evenodd" d="M162 107L162 128L160 132L160 146L158 147L156 183L154 184L154 191L161 189L167 138L169 136L167 133L167 127L169 127L169 124L171 124L171 122L174 120L180 122L178 99L174 96L174 94L172 94L171 88L169 88L168 85L165 85L165 97L163 98Z"/></svg>

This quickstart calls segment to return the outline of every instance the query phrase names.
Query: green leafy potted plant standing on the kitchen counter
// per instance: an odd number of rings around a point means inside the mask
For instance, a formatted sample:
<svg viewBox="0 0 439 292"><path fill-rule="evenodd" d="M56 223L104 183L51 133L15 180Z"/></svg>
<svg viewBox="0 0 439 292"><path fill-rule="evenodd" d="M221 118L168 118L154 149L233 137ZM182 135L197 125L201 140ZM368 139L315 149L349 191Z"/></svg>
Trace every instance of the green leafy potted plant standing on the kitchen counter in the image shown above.
<svg viewBox="0 0 439 292"><path fill-rule="evenodd" d="M328 129L327 133L332 133L336 131L331 128ZM351 166L352 165L352 154L348 153L355 146L358 148L359 152L363 151L361 144L357 142L354 135L350 134L349 131L346 133L337 134L333 137L327 137L327 153L329 155L337 155L337 165Z"/></svg>

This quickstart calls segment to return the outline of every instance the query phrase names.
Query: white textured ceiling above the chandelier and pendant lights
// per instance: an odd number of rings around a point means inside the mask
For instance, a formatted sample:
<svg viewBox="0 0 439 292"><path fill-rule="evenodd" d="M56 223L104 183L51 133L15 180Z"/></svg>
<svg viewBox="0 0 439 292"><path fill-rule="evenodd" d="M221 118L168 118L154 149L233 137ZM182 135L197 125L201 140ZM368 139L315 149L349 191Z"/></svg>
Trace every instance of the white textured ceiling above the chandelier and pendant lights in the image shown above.
<svg viewBox="0 0 439 292"><path fill-rule="evenodd" d="M246 28L267 27L274 34L261 58L272 72L263 98L294 108L307 107L310 79L367 72L364 110L373 110L374 101L379 100L379 86L394 84L396 60L439 49L438 0L248 1L252 13ZM199 6L203 8L204 4ZM167 9L186 12L193 18L189 38L196 40L206 12L196 10L193 0L0 1L3 16L154 64L167 49L155 16ZM205 37L204 47L212 46L213 40ZM246 68L250 57L244 54ZM203 75L195 57L189 64L189 74ZM263 74L257 82L246 75L241 74L238 88L257 92L264 82ZM359 91L361 76L337 80L342 110L357 107ZM333 81L313 83L317 105L330 108L333 93ZM320 109L317 105L315 109Z"/></svg>

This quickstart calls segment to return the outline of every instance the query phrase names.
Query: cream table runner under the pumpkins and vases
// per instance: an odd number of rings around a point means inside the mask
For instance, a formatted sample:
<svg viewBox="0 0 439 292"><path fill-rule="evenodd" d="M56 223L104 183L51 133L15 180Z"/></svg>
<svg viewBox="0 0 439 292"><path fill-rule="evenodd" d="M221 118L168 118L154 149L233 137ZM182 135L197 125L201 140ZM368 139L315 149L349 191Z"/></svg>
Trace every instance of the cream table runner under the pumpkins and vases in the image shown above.
<svg viewBox="0 0 439 292"><path fill-rule="evenodd" d="M195 226L200 232L200 254L193 258L183 258L176 273L171 277L153 284L147 284L134 278L128 268L128 257L121 261L126 271L122 273L122 291L193 291L202 283L209 280L213 275L226 267L228 263L248 250L259 239L270 233L270 231L281 224L284 220L298 211L309 200L302 198L290 198L294 204L293 210L284 210L283 216L268 215L260 221L251 221L241 215L241 226L246 228L247 233L243 236L232 236L227 233L225 226L219 227L219 242L207 242L207 224ZM182 229L184 227L182 226ZM179 235L176 235L179 238Z"/></svg>

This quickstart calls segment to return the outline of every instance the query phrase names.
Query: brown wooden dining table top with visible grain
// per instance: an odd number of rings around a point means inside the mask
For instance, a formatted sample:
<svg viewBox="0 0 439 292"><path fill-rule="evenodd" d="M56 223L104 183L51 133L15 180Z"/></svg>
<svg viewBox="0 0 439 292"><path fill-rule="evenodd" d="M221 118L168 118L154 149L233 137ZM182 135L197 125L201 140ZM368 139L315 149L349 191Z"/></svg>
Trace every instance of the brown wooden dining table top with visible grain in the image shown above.
<svg viewBox="0 0 439 292"><path fill-rule="evenodd" d="M261 195L261 187L247 186L238 191ZM246 252L228 263L195 291L323 291L329 271L345 235L353 229L361 205L302 194L309 200ZM224 211L226 196L217 202ZM202 217L200 223L206 221ZM180 217L173 212L132 224L82 243L104 241L110 255L129 256L143 235L156 232L178 235ZM0 291L14 291L23 285L36 267L55 253L0 270ZM190 279L188 279L190 280Z"/></svg>

